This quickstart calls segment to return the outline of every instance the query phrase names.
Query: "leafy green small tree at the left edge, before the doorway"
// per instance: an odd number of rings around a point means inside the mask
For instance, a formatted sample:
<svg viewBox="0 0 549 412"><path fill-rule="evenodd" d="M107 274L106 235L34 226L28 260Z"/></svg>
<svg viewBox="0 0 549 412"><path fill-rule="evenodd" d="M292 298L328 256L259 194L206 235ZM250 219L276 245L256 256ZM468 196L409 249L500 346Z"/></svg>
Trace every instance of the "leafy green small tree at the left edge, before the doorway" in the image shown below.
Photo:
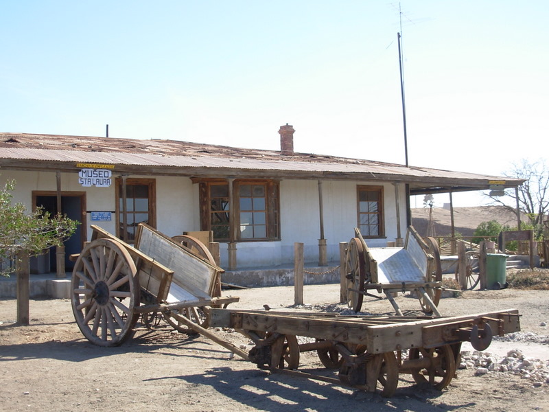
<svg viewBox="0 0 549 412"><path fill-rule="evenodd" d="M61 246L75 231L78 222L65 216L51 217L37 207L28 213L21 203L12 204L15 182L8 181L0 190L0 257L14 259L20 251L30 256L45 249ZM0 275L9 276L11 268L1 268Z"/></svg>

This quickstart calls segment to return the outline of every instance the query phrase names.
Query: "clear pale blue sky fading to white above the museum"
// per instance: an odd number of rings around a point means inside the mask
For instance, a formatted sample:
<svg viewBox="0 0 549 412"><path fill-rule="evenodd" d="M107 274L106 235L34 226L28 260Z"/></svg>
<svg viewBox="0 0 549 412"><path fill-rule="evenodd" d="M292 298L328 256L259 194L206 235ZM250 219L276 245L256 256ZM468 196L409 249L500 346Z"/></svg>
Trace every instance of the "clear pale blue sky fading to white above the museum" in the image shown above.
<svg viewBox="0 0 549 412"><path fill-rule="evenodd" d="M279 150L288 123L296 152L404 164L401 33L410 165L503 176L548 157L546 1L0 6L5 133L108 124L110 137Z"/></svg>

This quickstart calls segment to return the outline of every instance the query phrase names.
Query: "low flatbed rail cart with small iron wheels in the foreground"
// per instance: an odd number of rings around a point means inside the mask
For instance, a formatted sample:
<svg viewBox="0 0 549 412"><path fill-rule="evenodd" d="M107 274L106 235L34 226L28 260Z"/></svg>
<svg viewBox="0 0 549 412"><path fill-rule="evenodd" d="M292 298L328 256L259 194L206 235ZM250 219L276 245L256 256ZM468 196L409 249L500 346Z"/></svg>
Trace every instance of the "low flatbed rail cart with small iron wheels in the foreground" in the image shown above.
<svg viewBox="0 0 549 412"><path fill-rule="evenodd" d="M253 339L248 360L272 371L320 379L393 396L399 374L417 383L447 387L459 365L460 347L486 349L493 334L520 330L516 309L459 317L338 316L301 312L212 309L212 326L235 328ZM300 336L298 339L297 336ZM303 337L306 343L299 343ZM301 352L316 351L338 377L305 374Z"/></svg>

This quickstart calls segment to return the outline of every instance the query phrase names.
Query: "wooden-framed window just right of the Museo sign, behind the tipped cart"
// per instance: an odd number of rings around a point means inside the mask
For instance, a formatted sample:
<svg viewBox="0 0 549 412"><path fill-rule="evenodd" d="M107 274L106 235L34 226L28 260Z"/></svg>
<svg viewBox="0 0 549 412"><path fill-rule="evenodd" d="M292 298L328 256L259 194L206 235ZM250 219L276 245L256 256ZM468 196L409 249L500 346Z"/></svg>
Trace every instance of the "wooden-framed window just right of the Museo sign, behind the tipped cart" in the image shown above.
<svg viewBox="0 0 549 412"><path fill-rule="evenodd" d="M122 179L117 179L117 237L133 243L139 223L156 227L156 185L154 179L126 179L126 222ZM124 230L126 226L126 230Z"/></svg>

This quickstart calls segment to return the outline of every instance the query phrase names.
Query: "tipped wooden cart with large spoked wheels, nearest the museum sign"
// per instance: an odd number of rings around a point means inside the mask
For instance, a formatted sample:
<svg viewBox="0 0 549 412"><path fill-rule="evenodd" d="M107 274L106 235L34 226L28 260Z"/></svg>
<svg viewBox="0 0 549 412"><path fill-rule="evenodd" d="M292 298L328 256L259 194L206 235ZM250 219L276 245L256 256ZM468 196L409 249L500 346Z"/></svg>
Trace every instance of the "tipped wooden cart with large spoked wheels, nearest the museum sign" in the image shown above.
<svg viewBox="0 0 549 412"><path fill-rule="evenodd" d="M163 318L180 332L200 328L207 334L208 308L238 301L221 297L223 269L209 253L191 247L203 248L198 240L168 238L139 224L132 246L91 227L91 242L75 257L71 304L82 334L95 345L121 344L139 317L145 324Z"/></svg>

